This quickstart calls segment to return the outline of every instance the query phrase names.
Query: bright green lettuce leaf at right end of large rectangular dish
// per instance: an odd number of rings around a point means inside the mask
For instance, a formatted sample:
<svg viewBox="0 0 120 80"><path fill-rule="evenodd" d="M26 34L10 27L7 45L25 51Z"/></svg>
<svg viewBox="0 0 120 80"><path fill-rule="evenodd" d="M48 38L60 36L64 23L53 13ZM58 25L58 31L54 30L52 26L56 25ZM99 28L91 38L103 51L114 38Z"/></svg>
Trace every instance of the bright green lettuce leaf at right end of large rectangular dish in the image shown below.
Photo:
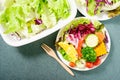
<svg viewBox="0 0 120 80"><path fill-rule="evenodd" d="M57 19L67 18L70 14L67 0L48 0L48 6L55 12Z"/></svg>

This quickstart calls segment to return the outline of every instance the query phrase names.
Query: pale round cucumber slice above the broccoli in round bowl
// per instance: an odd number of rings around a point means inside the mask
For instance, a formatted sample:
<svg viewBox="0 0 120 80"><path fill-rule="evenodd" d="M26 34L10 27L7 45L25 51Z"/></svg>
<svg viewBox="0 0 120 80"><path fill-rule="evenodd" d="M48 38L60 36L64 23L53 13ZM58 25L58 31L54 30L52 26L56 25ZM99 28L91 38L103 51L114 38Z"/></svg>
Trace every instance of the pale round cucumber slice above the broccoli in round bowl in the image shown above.
<svg viewBox="0 0 120 80"><path fill-rule="evenodd" d="M85 39L85 43L88 47L95 47L98 45L99 39L96 34L89 34Z"/></svg>

